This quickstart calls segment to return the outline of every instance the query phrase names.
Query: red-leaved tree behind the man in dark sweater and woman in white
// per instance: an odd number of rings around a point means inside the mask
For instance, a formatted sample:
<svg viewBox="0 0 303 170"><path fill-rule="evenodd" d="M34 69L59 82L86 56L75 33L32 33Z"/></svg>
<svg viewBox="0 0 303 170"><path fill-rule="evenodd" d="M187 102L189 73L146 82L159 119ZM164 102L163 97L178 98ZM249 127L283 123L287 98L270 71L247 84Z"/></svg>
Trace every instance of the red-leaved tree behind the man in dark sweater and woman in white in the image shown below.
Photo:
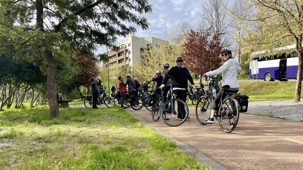
<svg viewBox="0 0 303 170"><path fill-rule="evenodd" d="M219 58L221 45L218 41L220 34L212 36L210 30L210 28L200 32L191 30L183 45L184 52L181 56L184 57L187 69L196 75L217 69L221 64ZM200 76L201 81L202 76Z"/></svg>

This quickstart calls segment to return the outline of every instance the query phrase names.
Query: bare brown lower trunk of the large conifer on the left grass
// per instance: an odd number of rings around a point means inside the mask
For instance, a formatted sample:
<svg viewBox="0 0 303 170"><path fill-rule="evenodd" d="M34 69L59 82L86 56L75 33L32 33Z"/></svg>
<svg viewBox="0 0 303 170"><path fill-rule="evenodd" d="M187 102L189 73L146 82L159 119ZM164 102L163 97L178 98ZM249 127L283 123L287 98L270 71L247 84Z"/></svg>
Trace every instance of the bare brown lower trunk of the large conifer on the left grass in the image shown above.
<svg viewBox="0 0 303 170"><path fill-rule="evenodd" d="M47 74L47 94L48 94L48 106L52 117L59 116L59 108L57 101L57 87L56 87L56 76L57 67L53 54L46 50L44 51L44 57L46 59L48 74Z"/></svg>

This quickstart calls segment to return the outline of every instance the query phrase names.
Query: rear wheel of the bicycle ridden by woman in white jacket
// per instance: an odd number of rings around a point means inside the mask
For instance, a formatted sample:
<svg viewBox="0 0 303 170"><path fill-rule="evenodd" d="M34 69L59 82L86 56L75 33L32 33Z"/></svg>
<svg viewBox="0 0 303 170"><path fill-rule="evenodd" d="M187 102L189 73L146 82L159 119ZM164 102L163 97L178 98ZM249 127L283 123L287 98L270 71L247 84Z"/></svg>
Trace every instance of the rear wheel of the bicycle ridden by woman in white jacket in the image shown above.
<svg viewBox="0 0 303 170"><path fill-rule="evenodd" d="M230 133L237 126L240 116L239 103L233 97L225 97L219 107L219 126L225 133ZM235 121L234 121L235 117Z"/></svg>

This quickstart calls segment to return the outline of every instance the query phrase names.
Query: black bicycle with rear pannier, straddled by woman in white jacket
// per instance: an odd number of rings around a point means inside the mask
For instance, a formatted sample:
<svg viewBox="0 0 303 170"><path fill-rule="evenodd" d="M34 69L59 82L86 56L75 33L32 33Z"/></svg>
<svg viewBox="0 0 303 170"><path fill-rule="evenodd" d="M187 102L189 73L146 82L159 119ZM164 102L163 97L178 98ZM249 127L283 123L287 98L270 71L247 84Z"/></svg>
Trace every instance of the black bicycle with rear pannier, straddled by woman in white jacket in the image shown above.
<svg viewBox="0 0 303 170"><path fill-rule="evenodd" d="M220 77L221 76L218 76L218 78ZM210 78L212 78L213 80L215 79L215 77L210 77ZM207 95L202 96L199 99L199 103L197 103L196 105L196 117L199 123L203 125L207 124L206 120L208 119L211 113L211 109L212 109L211 105L213 103L213 95L211 89L212 85L209 87L210 89ZM225 133L230 133L235 129L240 116L240 104L238 102L238 98L240 97L240 94L225 92L226 89L228 88L230 88L229 85L224 85L221 87L220 90L222 91L223 94L225 93L226 96L224 98L222 98L221 96L220 103L218 105L219 109L216 111L215 114L215 117L218 118L218 122L221 130Z"/></svg>

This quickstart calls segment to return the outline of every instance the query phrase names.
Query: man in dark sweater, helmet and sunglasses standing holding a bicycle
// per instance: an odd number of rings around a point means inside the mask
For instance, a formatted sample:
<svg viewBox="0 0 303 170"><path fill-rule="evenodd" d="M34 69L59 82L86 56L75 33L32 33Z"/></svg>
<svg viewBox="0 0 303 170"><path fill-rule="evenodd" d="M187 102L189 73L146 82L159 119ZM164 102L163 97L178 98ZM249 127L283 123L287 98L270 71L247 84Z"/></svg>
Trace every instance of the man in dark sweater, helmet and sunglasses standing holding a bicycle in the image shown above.
<svg viewBox="0 0 303 170"><path fill-rule="evenodd" d="M174 91L175 95L176 95L176 98L179 98L183 101L185 101L186 99L186 93L187 93L187 86L188 86L188 81L192 84L192 85L195 85L191 75L189 74L189 71L187 68L185 68L183 66L183 57L181 56L178 56L177 59L176 59L176 62L177 62L177 66L175 67L172 67L167 75L170 75L172 76L176 82L179 84L179 88L183 88L183 89L177 89ZM168 81L168 76L165 76L165 78L163 79L162 81L162 85L160 86L160 88L162 89L166 82ZM178 104L179 106L180 104ZM180 112L181 114L178 114L178 119L179 120L182 120L182 119L189 119L190 117L185 117L185 108L183 107L180 107Z"/></svg>

